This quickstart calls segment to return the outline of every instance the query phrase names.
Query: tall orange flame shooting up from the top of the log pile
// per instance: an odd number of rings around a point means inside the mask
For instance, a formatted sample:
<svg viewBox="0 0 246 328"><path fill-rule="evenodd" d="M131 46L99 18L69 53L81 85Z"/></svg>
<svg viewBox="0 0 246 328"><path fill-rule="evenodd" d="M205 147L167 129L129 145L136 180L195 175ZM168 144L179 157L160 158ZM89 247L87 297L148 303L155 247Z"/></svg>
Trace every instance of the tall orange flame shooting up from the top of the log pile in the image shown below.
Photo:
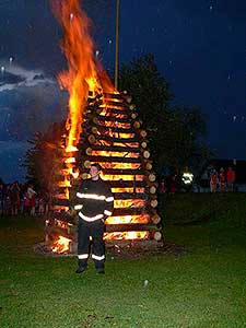
<svg viewBox="0 0 246 328"><path fill-rule="evenodd" d="M65 32L61 49L68 71L61 72L58 79L70 93L67 147L71 148L79 140L89 91L99 93L107 89L114 92L114 86L95 56L95 44L90 35L92 22L81 9L80 1L51 0L51 8Z"/></svg>

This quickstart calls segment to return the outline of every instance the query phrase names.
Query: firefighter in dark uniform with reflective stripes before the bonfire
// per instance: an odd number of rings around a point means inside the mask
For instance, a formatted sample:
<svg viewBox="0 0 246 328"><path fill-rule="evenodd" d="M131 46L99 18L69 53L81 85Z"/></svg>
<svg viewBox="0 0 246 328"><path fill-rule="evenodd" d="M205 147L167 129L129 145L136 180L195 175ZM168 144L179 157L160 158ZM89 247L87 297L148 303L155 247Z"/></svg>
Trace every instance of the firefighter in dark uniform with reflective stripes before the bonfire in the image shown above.
<svg viewBox="0 0 246 328"><path fill-rule="evenodd" d="M97 272L105 273L104 221L113 213L114 197L108 184L99 177L101 169L99 164L92 164L91 178L81 183L75 195L74 209L79 211L77 273L86 270L90 246Z"/></svg>

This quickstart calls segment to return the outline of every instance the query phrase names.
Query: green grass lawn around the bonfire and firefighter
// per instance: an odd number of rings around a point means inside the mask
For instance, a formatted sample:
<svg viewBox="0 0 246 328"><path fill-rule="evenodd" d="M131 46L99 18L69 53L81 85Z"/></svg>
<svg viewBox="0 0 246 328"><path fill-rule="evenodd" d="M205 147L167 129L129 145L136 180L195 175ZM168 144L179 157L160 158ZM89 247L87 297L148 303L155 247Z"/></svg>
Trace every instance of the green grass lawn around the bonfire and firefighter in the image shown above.
<svg viewBox="0 0 246 328"><path fill-rule="evenodd" d="M185 245L186 254L108 255L105 276L92 262L75 274L75 258L35 254L33 245L44 239L36 219L1 218L0 327L246 327L245 195L226 196L226 210L215 197L210 220L190 224L191 208L204 216L196 196L166 202L173 222L166 220L165 238Z"/></svg>

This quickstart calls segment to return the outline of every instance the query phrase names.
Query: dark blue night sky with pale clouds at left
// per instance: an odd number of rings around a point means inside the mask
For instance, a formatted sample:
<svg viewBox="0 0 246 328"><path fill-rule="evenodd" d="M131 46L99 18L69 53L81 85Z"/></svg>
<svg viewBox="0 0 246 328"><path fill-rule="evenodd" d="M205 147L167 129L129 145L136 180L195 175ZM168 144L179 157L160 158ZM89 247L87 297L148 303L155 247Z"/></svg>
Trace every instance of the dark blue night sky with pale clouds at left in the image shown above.
<svg viewBox="0 0 246 328"><path fill-rule="evenodd" d="M66 0L63 0L66 1ZM81 1L93 20L96 50L114 70L115 4ZM62 31L48 0L0 0L0 177L23 180L27 139L59 121L68 95ZM173 105L199 106L218 157L246 156L246 1L121 0L120 63L152 52L171 83Z"/></svg>

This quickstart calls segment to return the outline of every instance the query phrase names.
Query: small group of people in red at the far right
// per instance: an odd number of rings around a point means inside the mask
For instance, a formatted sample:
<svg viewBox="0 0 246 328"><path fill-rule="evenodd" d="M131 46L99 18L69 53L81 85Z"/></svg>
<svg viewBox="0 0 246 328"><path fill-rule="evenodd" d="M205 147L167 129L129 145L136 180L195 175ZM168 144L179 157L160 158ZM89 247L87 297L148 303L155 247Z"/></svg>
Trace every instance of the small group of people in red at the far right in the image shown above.
<svg viewBox="0 0 246 328"><path fill-rule="evenodd" d="M224 167L221 167L220 172L213 168L210 175L210 191L235 191L235 179L236 174L232 167L229 167L226 171Z"/></svg>

